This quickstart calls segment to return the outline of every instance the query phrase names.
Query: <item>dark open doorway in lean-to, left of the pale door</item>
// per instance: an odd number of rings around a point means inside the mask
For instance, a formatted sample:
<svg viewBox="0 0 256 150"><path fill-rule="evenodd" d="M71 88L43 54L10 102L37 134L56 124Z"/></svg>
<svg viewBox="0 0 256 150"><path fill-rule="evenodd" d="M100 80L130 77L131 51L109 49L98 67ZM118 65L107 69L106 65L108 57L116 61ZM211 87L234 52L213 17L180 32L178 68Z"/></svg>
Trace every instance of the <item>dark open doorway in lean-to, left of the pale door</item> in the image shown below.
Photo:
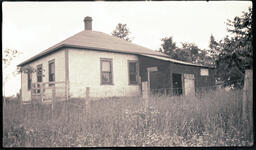
<svg viewBox="0 0 256 150"><path fill-rule="evenodd" d="M173 95L182 95L182 75L178 73L172 74L172 85L173 85Z"/></svg>

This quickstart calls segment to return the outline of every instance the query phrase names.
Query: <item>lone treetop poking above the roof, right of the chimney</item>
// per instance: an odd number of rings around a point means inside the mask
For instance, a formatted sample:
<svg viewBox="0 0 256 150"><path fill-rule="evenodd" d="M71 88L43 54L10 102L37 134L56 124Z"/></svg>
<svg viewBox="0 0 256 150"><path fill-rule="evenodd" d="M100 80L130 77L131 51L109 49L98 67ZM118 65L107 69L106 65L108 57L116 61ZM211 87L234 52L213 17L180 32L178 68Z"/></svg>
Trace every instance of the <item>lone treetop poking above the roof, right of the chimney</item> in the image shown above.
<svg viewBox="0 0 256 150"><path fill-rule="evenodd" d="M116 29L111 33L113 36L131 42L130 31L126 24L118 23Z"/></svg>

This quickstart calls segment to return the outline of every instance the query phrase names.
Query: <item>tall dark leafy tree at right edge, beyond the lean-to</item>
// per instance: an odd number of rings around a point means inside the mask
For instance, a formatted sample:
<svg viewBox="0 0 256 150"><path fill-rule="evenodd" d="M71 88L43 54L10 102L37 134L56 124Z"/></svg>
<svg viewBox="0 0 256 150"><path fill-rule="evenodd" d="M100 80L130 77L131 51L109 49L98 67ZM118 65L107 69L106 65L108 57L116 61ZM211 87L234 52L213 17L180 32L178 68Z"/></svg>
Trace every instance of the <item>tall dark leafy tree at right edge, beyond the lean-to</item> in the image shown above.
<svg viewBox="0 0 256 150"><path fill-rule="evenodd" d="M224 86L242 88L246 67L252 68L252 9L243 12L241 17L228 20L228 32L218 43L220 53L216 59L217 79L223 81Z"/></svg>

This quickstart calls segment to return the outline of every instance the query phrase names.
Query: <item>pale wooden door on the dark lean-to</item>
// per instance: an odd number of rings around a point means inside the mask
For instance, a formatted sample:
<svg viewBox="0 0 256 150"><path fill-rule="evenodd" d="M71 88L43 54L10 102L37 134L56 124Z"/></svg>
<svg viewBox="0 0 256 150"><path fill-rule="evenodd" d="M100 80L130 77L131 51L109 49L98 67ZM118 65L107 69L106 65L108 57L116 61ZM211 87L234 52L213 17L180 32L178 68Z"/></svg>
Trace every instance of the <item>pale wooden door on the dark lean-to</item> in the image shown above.
<svg viewBox="0 0 256 150"><path fill-rule="evenodd" d="M185 95L195 95L194 74L184 74Z"/></svg>

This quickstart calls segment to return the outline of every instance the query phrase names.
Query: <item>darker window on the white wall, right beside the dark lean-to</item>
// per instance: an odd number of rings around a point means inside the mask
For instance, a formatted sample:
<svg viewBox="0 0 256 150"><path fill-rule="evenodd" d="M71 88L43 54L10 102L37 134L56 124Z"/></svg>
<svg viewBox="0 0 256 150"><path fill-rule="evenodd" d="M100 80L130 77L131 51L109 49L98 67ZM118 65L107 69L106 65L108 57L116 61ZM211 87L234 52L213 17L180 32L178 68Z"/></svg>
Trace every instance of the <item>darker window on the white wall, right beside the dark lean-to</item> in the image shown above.
<svg viewBox="0 0 256 150"><path fill-rule="evenodd" d="M129 84L137 84L137 62L136 61L128 61L128 69L129 69Z"/></svg>

